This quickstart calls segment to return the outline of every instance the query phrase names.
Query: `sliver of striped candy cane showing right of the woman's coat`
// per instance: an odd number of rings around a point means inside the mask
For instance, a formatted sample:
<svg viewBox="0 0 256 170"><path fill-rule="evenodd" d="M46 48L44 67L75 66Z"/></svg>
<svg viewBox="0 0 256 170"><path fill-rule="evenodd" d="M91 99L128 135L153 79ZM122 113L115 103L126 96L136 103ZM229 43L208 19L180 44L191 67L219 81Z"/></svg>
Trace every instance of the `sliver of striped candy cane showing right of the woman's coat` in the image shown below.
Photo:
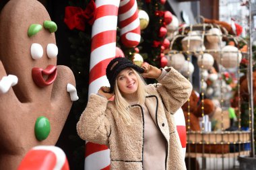
<svg viewBox="0 0 256 170"><path fill-rule="evenodd" d="M186 144L187 144L187 134L186 134L186 122L183 114L183 110L179 108L174 114L174 120L176 123L177 132L181 140L181 146L183 148L184 159L186 155Z"/></svg>

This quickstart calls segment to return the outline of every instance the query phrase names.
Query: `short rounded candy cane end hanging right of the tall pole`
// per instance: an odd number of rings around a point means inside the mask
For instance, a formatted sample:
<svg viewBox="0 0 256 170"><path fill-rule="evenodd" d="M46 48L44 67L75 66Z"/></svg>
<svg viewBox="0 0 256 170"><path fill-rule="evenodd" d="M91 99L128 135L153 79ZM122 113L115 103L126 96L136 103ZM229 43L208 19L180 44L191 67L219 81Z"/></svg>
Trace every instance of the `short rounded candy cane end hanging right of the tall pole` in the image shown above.
<svg viewBox="0 0 256 170"><path fill-rule="evenodd" d="M140 41L139 11L136 0L121 0L119 5L119 28L121 42L126 47L135 47Z"/></svg>

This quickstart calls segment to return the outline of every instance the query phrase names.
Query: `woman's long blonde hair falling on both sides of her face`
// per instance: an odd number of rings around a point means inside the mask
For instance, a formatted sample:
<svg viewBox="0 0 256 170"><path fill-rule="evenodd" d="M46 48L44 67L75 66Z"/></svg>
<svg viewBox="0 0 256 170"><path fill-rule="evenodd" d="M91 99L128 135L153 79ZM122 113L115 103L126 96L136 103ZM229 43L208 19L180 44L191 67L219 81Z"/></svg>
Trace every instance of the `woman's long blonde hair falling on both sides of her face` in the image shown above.
<svg viewBox="0 0 256 170"><path fill-rule="evenodd" d="M146 98L146 83L141 77L141 75L137 73L137 71L135 71L134 69L131 69L131 70L137 77L138 87L135 93L137 93L137 96L138 96L138 103L142 105L143 103L145 103L145 98ZM121 116L121 120L123 120L125 124L130 125L131 121L133 120L133 117L129 112L130 104L126 101L126 99L121 94L121 91L119 90L119 87L117 85L117 79L115 80L114 91L115 91L115 99L114 99L115 107L117 108Z"/></svg>

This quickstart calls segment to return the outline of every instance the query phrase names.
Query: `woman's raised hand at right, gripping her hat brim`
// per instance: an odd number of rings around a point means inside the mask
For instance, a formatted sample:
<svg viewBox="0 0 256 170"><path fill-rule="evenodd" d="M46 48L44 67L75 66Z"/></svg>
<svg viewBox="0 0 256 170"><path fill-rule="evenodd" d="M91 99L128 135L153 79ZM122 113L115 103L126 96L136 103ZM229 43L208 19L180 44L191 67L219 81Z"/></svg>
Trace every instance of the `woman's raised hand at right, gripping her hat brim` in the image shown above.
<svg viewBox="0 0 256 170"><path fill-rule="evenodd" d="M144 78L157 79L162 73L160 69L148 63L144 63L141 68L144 69L144 73L141 74Z"/></svg>

